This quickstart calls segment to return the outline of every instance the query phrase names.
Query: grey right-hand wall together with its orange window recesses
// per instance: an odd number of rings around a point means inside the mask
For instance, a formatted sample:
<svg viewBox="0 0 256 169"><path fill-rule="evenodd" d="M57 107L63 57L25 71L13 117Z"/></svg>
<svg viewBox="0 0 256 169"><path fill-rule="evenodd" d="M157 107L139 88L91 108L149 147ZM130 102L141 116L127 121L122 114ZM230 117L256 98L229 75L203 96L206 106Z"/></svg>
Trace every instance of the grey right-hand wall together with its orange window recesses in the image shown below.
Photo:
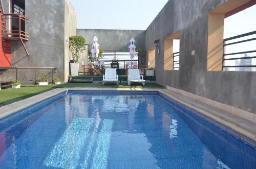
<svg viewBox="0 0 256 169"><path fill-rule="evenodd" d="M224 18L247 3L255 1L168 1L145 33L146 62L160 39L155 50L157 83L256 113L255 72L222 71ZM177 33L180 64L179 70L172 70L165 65L172 58L167 46Z"/></svg>

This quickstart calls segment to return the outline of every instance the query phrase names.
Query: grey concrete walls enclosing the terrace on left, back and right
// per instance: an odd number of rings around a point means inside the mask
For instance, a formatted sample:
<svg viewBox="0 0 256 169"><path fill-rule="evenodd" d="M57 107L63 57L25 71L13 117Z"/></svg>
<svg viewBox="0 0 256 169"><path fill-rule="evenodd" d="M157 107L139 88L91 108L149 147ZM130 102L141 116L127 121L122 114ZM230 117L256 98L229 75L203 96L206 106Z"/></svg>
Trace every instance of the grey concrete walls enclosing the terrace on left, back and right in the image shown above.
<svg viewBox="0 0 256 169"><path fill-rule="evenodd" d="M145 31L76 30L76 12L68 0L23 2L29 18L25 25L29 56L19 41L12 41L12 66L57 67L60 78L67 82L69 36L81 35L89 44L98 36L106 51L125 51L134 37L136 46L146 50L142 65L154 63L158 84L256 113L255 72L222 70L224 19L255 1L168 1ZM11 12L10 4L11 0L3 0L5 11ZM178 70L173 70L175 39L180 40ZM0 80L3 77L8 75L0 75Z"/></svg>

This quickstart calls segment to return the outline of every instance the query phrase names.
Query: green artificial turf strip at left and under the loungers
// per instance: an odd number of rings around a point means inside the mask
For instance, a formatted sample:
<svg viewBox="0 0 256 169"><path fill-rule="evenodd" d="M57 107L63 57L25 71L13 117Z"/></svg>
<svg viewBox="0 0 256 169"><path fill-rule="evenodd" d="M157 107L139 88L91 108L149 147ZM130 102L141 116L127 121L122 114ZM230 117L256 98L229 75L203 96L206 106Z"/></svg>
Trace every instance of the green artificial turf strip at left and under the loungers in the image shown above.
<svg viewBox="0 0 256 169"><path fill-rule="evenodd" d="M129 86L127 83L119 83L117 86L115 83L105 83L103 86L102 83L65 83L60 85L23 85L21 88L13 89L2 89L0 90L0 106L8 105L13 102L17 102L23 99L30 98L33 95L40 94L55 88L63 87L106 87L106 88L163 88L163 86L157 83L146 83L145 86L142 86L141 83L132 83L132 86Z"/></svg>

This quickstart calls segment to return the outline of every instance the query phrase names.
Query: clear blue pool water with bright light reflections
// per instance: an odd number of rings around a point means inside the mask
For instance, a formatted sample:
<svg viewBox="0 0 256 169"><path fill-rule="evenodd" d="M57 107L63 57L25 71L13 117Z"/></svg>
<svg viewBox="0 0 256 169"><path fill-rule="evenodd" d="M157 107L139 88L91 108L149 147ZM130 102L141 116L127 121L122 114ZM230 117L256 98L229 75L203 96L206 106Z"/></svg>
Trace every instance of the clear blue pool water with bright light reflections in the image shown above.
<svg viewBox="0 0 256 169"><path fill-rule="evenodd" d="M157 92L70 91L0 120L0 168L256 168L256 150Z"/></svg>

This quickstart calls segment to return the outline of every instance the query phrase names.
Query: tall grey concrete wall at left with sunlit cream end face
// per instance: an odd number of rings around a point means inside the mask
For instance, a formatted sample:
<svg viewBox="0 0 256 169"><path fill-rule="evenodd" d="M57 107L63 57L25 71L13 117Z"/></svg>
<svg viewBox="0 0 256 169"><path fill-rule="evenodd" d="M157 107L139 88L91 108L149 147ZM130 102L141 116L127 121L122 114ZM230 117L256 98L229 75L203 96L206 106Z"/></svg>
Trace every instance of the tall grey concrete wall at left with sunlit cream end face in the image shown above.
<svg viewBox="0 0 256 169"><path fill-rule="evenodd" d="M9 11L9 1L4 0L5 12ZM25 41L29 56L20 41L12 41L12 66L57 67L61 81L69 75L69 47L67 39L76 34L76 13L68 0L26 0ZM65 13L66 12L66 13ZM23 70L24 71L24 70ZM33 82L34 73L18 74L20 81ZM0 80L14 80L13 75L0 75Z"/></svg>

